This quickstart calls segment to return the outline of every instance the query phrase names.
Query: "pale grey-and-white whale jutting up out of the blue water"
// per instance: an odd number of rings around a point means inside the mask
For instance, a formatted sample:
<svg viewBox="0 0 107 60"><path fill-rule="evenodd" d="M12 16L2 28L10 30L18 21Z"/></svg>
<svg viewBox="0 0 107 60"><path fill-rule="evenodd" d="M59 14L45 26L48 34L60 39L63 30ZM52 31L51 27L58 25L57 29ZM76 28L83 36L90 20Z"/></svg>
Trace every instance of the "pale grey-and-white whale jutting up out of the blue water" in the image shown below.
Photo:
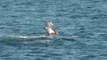
<svg viewBox="0 0 107 60"><path fill-rule="evenodd" d="M58 31L56 30L54 24L50 20L46 20L46 30L48 35L57 35Z"/></svg>

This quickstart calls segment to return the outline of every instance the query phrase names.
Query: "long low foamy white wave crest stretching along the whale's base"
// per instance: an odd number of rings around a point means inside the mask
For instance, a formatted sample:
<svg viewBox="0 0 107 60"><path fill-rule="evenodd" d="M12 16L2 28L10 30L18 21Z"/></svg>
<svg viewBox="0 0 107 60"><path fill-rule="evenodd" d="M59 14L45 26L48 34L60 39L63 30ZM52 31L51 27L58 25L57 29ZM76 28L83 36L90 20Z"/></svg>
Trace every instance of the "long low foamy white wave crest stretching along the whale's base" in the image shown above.
<svg viewBox="0 0 107 60"><path fill-rule="evenodd" d="M51 36L51 35L1 35L0 39L2 40L75 40L76 38L78 38L78 36Z"/></svg>

